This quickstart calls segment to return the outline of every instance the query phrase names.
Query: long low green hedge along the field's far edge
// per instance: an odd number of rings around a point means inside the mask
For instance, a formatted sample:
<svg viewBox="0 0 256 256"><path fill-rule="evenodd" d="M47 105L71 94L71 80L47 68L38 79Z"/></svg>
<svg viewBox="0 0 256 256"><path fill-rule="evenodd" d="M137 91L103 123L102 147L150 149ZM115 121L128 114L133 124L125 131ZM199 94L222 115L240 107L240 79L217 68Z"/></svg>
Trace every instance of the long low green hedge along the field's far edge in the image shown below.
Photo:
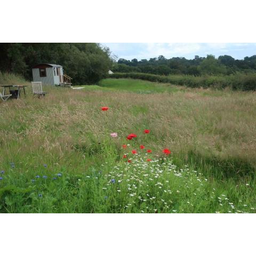
<svg viewBox="0 0 256 256"><path fill-rule="evenodd" d="M153 75L146 73L115 73L111 78L133 78L150 82L170 83L185 85L188 87L218 88L231 87L233 90L253 91L256 90L256 73L214 75L214 76L191 76L191 75Z"/></svg>

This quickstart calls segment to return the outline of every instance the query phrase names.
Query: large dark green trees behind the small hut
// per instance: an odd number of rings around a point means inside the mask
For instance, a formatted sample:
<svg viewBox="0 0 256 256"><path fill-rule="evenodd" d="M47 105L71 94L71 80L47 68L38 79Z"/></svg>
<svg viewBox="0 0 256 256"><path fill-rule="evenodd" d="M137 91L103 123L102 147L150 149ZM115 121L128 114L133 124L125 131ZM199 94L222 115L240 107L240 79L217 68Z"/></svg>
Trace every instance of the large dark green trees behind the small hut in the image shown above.
<svg viewBox="0 0 256 256"><path fill-rule="evenodd" d="M33 66L58 64L74 84L97 83L113 63L109 48L98 43L0 43L0 54L0 71L31 80Z"/></svg>

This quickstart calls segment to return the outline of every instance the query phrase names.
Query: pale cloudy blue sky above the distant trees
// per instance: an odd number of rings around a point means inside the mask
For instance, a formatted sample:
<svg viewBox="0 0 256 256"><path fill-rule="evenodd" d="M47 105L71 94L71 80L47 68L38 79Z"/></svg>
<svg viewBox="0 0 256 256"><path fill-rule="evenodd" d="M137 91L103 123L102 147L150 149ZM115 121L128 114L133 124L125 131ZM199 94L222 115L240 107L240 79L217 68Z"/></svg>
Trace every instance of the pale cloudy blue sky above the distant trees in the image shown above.
<svg viewBox="0 0 256 256"><path fill-rule="evenodd" d="M110 48L118 58L149 59L164 55L165 58L185 57L194 59L195 55L230 55L235 59L256 55L256 43L102 43Z"/></svg>

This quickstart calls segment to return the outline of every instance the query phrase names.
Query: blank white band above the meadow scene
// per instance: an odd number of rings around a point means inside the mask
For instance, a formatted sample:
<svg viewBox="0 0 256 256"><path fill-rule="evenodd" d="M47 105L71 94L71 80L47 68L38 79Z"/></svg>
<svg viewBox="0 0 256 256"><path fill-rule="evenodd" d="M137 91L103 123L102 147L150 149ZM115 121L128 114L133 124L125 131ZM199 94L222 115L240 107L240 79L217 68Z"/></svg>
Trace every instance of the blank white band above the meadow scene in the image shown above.
<svg viewBox="0 0 256 256"><path fill-rule="evenodd" d="M9 0L0 42L255 42L251 0Z"/></svg>

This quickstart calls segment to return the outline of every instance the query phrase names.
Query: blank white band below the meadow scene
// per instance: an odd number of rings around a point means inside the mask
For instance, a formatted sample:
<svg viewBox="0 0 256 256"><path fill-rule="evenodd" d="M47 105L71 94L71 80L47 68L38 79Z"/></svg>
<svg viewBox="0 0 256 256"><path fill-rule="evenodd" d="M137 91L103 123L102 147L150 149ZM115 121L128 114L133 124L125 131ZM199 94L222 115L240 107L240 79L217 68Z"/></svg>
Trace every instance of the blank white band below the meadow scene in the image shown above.
<svg viewBox="0 0 256 256"><path fill-rule="evenodd" d="M2 214L1 255L252 255L254 214Z"/></svg>

